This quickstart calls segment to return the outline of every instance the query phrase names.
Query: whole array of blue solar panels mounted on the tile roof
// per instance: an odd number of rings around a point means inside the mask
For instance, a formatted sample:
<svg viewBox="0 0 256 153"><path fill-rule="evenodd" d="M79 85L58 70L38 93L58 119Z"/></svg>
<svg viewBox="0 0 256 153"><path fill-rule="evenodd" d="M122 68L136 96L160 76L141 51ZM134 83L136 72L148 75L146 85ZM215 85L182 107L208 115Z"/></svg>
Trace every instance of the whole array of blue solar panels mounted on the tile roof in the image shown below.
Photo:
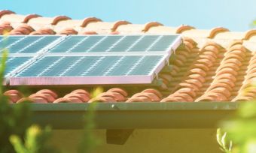
<svg viewBox="0 0 256 153"><path fill-rule="evenodd" d="M11 86L151 83L181 43L178 35L0 38Z"/></svg>

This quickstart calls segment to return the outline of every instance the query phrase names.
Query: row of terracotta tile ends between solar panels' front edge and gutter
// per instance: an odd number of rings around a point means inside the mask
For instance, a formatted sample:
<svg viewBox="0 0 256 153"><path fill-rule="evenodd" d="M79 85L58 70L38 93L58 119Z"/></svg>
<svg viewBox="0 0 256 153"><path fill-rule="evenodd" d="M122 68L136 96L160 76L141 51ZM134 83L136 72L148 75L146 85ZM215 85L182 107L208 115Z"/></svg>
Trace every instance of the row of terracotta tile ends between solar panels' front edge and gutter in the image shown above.
<svg viewBox="0 0 256 153"><path fill-rule="evenodd" d="M56 92L50 89L42 89L38 92L29 95L29 97L24 97L24 95L17 90L8 90L4 93L8 97L9 103L18 104L25 101L38 104L47 103L93 103L93 102L138 102L138 101L160 101L162 95L156 89L145 89L144 91L133 95L128 98L128 94L123 89L113 88L109 89L107 92L102 92L95 98L91 98L90 92L84 89L77 89L69 94L59 98Z"/></svg>

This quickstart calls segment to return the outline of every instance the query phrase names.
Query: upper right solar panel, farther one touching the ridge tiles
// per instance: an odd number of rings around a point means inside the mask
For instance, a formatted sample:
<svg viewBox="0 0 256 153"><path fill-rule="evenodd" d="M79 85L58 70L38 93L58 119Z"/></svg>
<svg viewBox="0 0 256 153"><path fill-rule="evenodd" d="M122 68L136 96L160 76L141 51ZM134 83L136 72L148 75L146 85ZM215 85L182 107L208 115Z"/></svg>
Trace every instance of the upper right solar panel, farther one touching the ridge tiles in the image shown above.
<svg viewBox="0 0 256 153"><path fill-rule="evenodd" d="M175 35L69 36L50 49L50 52L168 51L177 37Z"/></svg>

